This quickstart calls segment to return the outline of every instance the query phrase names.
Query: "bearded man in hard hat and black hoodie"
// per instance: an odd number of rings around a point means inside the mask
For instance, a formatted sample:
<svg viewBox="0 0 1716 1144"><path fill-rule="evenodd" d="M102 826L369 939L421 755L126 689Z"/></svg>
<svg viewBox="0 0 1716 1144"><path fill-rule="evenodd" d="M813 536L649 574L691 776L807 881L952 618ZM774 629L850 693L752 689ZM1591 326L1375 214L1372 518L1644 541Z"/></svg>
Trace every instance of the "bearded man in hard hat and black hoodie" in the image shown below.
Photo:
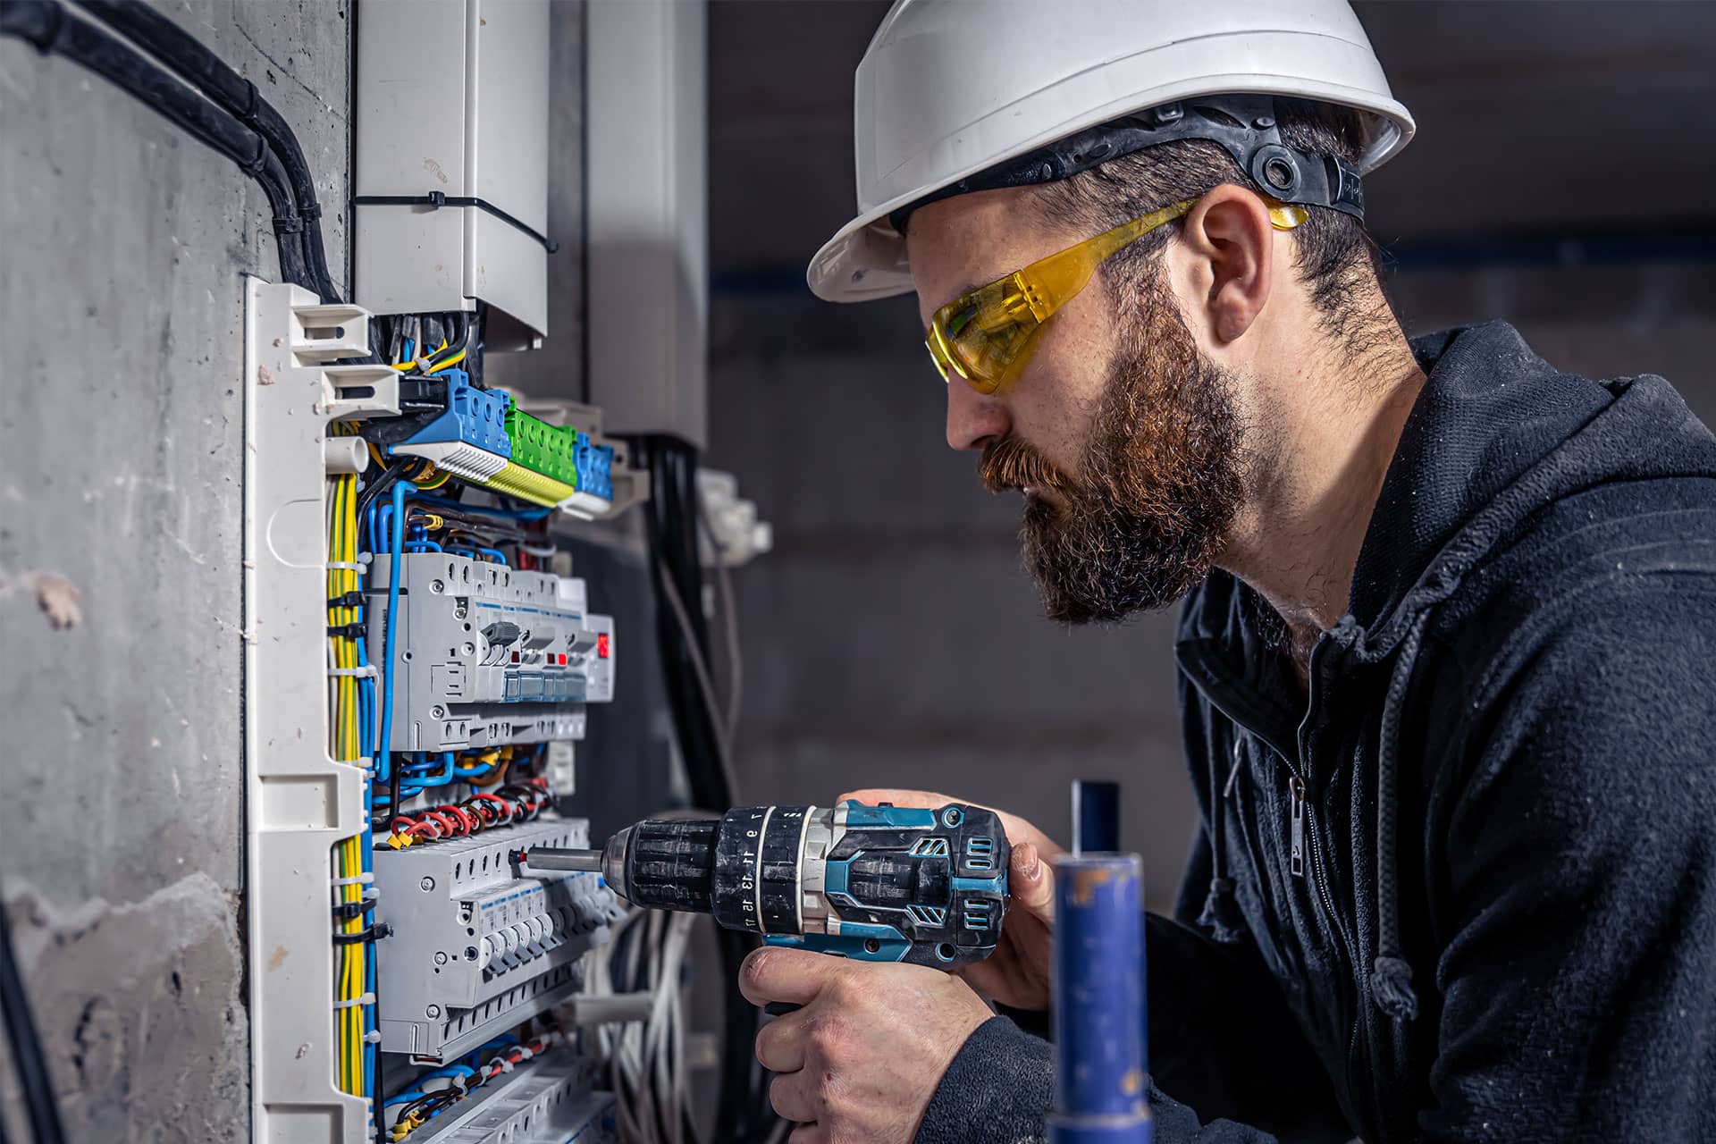
<svg viewBox="0 0 1716 1144"><path fill-rule="evenodd" d="M916 290L1050 617L1186 600L1155 1139L1716 1139L1716 441L1502 322L1405 340L1359 177L1412 120L1347 5L901 0L856 132L812 288ZM1043 1134L1009 830L964 979L750 959L795 1142Z"/></svg>

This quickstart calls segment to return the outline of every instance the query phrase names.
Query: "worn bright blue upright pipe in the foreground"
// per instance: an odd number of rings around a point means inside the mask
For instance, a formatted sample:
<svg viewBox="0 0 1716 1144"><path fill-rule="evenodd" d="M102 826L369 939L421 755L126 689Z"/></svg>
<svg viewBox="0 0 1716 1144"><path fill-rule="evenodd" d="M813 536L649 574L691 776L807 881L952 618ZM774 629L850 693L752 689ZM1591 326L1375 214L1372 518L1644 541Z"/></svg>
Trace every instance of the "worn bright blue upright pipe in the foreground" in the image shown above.
<svg viewBox="0 0 1716 1144"><path fill-rule="evenodd" d="M1050 1144L1150 1144L1143 859L1055 859Z"/></svg>

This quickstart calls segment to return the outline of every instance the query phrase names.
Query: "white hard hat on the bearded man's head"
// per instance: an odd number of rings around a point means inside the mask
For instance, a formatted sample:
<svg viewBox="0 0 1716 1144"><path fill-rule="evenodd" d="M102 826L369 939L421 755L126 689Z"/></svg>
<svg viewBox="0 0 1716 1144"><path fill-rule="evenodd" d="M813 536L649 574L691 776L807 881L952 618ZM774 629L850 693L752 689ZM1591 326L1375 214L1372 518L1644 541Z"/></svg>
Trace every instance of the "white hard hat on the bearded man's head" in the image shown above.
<svg viewBox="0 0 1716 1144"><path fill-rule="evenodd" d="M1359 110L1357 172L1414 130L1347 0L896 0L858 63L858 218L812 259L810 288L908 293L894 211L1078 132L1230 93Z"/></svg>

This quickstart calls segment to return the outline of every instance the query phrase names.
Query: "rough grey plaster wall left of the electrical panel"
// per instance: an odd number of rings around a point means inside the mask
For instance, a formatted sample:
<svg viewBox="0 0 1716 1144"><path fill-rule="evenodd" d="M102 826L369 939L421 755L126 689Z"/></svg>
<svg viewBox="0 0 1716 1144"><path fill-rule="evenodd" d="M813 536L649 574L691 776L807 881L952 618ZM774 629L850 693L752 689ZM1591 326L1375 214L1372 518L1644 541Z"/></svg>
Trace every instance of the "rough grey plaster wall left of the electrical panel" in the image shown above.
<svg viewBox="0 0 1716 1144"><path fill-rule="evenodd" d="M297 129L343 285L348 5L163 7ZM254 184L101 79L0 41L0 866L74 1141L249 1130L245 273L278 274ZM74 626L51 626L43 578Z"/></svg>

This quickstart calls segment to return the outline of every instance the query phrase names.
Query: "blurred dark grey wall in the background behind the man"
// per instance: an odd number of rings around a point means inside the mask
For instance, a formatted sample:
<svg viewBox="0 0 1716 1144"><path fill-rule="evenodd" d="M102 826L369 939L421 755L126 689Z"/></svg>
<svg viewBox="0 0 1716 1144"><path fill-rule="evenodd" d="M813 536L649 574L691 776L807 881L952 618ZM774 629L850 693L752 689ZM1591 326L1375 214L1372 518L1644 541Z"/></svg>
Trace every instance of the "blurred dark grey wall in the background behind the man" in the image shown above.
<svg viewBox="0 0 1716 1144"><path fill-rule="evenodd" d="M1409 329L1508 317L1596 377L1661 372L1716 424L1716 264L1402 274ZM1069 827L1067 782L1122 782L1124 844L1172 902L1196 806L1179 746L1172 616L1042 619L1016 497L942 439L946 394L915 302L717 295L712 463L776 551L736 576L746 691L740 779L769 801L860 784L939 789Z"/></svg>

